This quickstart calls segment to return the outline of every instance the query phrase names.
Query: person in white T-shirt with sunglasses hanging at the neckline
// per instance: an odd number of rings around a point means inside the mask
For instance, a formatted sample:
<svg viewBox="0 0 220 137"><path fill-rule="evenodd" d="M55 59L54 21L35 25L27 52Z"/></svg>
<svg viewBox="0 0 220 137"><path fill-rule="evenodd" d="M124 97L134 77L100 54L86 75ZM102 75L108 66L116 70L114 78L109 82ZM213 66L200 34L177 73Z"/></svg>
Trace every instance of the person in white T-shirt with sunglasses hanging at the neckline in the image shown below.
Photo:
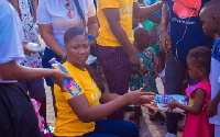
<svg viewBox="0 0 220 137"><path fill-rule="evenodd" d="M41 37L46 44L42 59L44 68L51 68L48 61L54 57L59 62L66 61L64 33L67 28L80 26L95 38L98 35L99 28L92 0L40 0L36 11L36 23ZM50 78L45 78L45 80L54 94L54 82ZM53 103L55 107L54 95Z"/></svg>

